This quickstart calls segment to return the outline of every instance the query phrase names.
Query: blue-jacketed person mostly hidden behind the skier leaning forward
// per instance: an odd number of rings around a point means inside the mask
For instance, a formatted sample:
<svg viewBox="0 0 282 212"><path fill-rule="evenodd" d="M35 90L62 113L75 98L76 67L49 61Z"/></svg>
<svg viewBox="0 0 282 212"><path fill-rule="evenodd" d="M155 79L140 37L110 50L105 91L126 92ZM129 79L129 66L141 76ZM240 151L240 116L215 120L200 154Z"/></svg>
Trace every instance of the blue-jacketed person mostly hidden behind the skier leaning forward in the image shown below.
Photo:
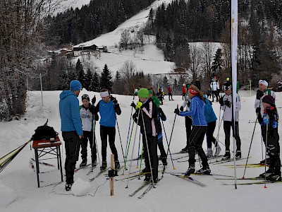
<svg viewBox="0 0 282 212"><path fill-rule="evenodd" d="M216 129L216 114L214 114L214 109L212 108L212 102L207 99L204 95L204 102L206 106L204 107L204 117L207 121L207 157L212 157L212 143L216 148L214 155L219 155L221 152L221 147L219 146L219 142L214 138L214 130Z"/></svg>

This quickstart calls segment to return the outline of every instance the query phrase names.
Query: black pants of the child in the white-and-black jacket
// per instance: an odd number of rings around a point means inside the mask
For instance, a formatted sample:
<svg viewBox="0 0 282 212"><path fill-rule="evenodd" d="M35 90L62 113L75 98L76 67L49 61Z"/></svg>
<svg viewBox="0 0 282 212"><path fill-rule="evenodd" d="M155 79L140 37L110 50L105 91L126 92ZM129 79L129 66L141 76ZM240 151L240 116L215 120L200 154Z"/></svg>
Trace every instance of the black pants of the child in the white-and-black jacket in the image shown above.
<svg viewBox="0 0 282 212"><path fill-rule="evenodd" d="M93 131L83 131L83 139L81 143L81 158L87 160L87 145L90 143L91 149L91 161L94 163L97 160L97 149L96 143L94 142L95 136L93 137Z"/></svg>

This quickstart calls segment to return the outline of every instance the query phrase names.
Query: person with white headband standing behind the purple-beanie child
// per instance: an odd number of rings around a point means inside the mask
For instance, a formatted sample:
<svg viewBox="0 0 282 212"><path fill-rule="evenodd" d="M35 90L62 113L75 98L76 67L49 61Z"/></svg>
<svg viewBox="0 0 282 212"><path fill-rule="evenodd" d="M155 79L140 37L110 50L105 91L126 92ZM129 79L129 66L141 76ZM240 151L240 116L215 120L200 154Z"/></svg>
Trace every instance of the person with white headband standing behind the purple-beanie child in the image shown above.
<svg viewBox="0 0 282 212"><path fill-rule="evenodd" d="M257 90L257 97L255 99L255 112L257 113L257 121L259 122L259 124L261 124L262 138L264 141L264 145L265 145L265 139L264 139L265 136L263 135L265 134L265 132L264 132L264 128L262 127L262 117L264 115L264 107L262 105L262 98L264 98L265 95L271 95L274 98L274 104L276 98L274 91L267 88L268 86L269 83L267 83L266 80L264 79L259 80L259 90ZM269 158L266 159L266 163L269 162L268 159ZM264 163L264 162L265 160L260 161L260 163Z"/></svg>

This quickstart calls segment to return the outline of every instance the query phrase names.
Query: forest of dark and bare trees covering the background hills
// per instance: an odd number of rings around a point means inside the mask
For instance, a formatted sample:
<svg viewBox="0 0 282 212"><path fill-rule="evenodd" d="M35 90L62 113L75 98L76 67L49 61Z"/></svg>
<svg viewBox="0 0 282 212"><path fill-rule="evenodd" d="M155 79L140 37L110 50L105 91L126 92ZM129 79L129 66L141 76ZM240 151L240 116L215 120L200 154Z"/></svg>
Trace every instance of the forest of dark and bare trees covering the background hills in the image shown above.
<svg viewBox="0 0 282 212"><path fill-rule="evenodd" d="M44 77L44 90L66 89L73 78L88 90L106 86L126 95L139 85L167 85L166 77L145 75L132 61L125 62L112 78L106 64L99 70L79 59L74 63L66 57L47 55L47 49L75 45L116 29L154 0L92 0L81 9L71 8L54 16L51 11L62 1L1 1L0 120L25 112L27 87L40 88L39 73ZM146 27L136 32L133 42L143 45L145 35L154 35L165 59L189 71L189 81L209 81L214 75L222 81L231 70L230 2L174 0L162 4L149 12ZM238 9L240 84L247 85L251 79L257 86L258 79L265 78L275 88L277 79L282 78L282 0L239 0ZM126 31L123 34L126 38ZM130 41L125 41L126 48ZM221 47L214 42L221 42ZM176 78L172 83L175 90L185 81L185 76Z"/></svg>

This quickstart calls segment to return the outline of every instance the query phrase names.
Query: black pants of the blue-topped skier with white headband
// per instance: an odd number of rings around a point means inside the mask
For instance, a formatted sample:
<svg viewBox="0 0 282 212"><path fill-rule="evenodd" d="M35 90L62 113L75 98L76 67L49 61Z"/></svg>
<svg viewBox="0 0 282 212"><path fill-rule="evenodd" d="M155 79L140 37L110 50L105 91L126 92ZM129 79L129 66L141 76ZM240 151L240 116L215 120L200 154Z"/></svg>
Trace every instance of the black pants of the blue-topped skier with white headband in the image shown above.
<svg viewBox="0 0 282 212"><path fill-rule="evenodd" d="M116 145L114 143L116 139L116 127L100 125L100 136L102 141L102 161L106 161L106 146L108 143L108 136L111 153L114 154L114 160L118 160L118 151L116 151Z"/></svg>

